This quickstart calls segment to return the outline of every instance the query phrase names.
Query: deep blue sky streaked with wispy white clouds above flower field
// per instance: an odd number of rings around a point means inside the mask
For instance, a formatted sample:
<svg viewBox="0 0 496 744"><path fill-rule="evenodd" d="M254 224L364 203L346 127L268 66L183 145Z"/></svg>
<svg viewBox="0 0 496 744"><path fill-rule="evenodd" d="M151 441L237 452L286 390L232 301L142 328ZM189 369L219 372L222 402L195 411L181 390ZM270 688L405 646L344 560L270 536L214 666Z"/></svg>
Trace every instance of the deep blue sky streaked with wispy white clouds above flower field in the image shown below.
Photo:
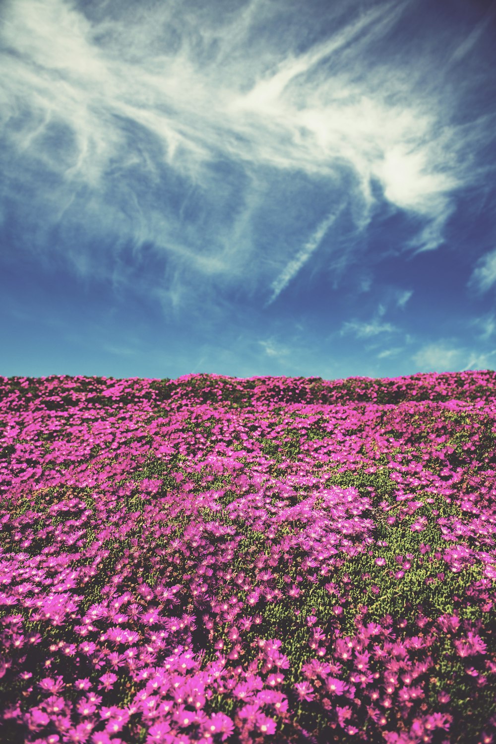
<svg viewBox="0 0 496 744"><path fill-rule="evenodd" d="M496 368L496 2L3 0L0 374Z"/></svg>

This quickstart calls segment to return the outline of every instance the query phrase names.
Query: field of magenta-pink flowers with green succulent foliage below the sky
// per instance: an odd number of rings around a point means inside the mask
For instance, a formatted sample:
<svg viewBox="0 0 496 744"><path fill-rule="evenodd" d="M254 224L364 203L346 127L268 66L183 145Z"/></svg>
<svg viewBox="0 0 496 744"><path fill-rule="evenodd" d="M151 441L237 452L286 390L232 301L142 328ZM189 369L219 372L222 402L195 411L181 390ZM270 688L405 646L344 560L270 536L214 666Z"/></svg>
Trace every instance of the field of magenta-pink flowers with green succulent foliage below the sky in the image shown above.
<svg viewBox="0 0 496 744"><path fill-rule="evenodd" d="M0 740L496 742L495 383L0 378Z"/></svg>

